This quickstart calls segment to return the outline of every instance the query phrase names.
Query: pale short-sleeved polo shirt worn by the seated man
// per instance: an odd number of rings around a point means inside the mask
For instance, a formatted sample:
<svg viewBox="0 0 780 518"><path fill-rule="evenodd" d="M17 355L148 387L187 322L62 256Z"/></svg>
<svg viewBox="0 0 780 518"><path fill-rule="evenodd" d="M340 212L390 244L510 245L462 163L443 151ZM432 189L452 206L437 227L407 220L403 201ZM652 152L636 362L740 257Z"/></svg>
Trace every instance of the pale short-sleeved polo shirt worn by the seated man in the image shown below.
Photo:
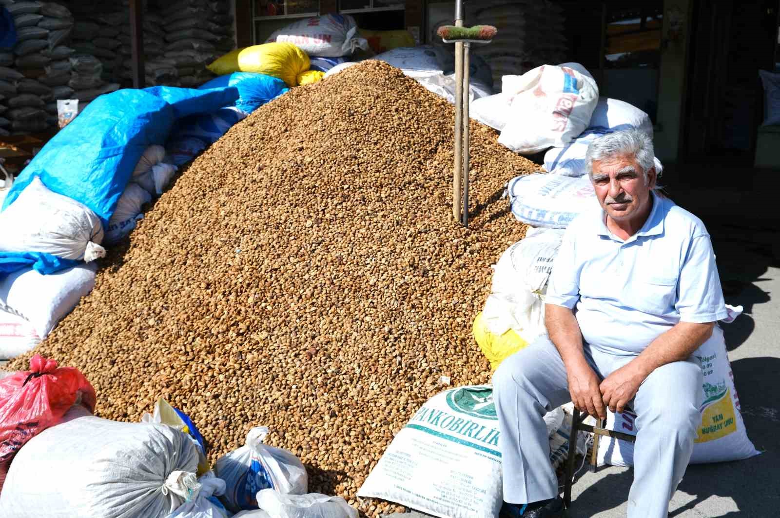
<svg viewBox="0 0 780 518"><path fill-rule="evenodd" d="M553 264L544 301L574 309L585 342L606 353L638 354L679 321L727 315L704 224L652 196L647 222L625 241L601 207L577 216Z"/></svg>

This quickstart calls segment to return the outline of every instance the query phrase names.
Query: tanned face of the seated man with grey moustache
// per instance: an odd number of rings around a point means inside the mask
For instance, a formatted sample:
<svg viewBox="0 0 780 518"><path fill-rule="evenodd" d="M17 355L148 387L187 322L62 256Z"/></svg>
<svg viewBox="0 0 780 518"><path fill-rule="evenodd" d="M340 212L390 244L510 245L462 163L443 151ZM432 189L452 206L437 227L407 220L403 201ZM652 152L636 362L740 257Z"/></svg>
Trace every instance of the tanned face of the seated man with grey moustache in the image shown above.
<svg viewBox="0 0 780 518"><path fill-rule="evenodd" d="M650 204L650 192L655 186L654 168L647 172L646 185L636 159L623 154L594 160L590 180L601 208L616 222L647 217L644 209Z"/></svg>

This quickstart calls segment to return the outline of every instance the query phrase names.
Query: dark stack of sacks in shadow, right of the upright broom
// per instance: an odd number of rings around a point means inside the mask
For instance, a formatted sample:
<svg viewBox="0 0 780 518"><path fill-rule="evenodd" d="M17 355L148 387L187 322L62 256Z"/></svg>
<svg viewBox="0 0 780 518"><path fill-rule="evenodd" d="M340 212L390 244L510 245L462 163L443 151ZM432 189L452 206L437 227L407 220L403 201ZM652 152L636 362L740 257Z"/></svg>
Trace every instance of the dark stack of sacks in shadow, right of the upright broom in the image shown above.
<svg viewBox="0 0 780 518"><path fill-rule="evenodd" d="M499 86L502 76L565 59L568 48L562 15L562 7L549 0L488 0L466 5L467 25L498 29L490 44L474 45L473 51L490 64Z"/></svg>

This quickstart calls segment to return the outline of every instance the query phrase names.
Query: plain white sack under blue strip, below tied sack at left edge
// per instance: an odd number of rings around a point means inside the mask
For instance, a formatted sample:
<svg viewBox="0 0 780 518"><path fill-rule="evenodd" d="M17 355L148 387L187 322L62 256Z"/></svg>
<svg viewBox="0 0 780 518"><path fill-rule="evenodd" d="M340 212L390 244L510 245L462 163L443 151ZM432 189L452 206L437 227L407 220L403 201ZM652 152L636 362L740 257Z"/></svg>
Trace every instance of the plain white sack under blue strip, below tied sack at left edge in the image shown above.
<svg viewBox="0 0 780 518"><path fill-rule="evenodd" d="M44 339L92 291L95 270L97 265L90 263L48 275L32 268L9 273L0 279L0 310L27 319Z"/></svg>

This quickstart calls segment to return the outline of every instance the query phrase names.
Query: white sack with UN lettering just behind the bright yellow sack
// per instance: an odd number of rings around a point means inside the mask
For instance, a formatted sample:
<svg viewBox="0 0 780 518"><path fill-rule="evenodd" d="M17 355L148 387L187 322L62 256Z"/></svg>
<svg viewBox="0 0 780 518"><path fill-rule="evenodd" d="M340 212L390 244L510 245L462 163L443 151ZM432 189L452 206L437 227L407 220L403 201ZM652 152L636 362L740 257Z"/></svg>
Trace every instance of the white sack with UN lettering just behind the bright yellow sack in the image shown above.
<svg viewBox="0 0 780 518"><path fill-rule="evenodd" d="M275 31L265 43L288 42L308 55L339 58L357 48L368 49L368 41L357 36L357 23L349 15L326 14L290 23Z"/></svg>

